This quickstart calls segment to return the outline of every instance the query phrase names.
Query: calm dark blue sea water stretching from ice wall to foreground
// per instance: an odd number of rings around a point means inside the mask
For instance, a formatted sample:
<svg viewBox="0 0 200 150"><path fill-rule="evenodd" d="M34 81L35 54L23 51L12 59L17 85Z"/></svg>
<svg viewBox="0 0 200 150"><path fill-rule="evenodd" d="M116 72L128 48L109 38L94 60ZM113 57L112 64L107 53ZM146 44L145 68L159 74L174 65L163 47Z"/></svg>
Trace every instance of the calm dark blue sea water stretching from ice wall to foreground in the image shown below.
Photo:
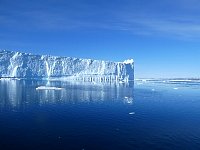
<svg viewBox="0 0 200 150"><path fill-rule="evenodd" d="M199 150L200 83L0 80L0 149Z"/></svg>

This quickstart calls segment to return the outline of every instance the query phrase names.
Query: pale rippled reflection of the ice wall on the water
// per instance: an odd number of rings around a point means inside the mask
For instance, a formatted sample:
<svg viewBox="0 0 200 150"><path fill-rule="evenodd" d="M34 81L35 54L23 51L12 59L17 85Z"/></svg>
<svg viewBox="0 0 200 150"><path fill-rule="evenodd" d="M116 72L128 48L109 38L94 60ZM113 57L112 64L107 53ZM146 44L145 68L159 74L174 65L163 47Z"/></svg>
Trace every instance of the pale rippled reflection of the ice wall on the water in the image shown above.
<svg viewBox="0 0 200 150"><path fill-rule="evenodd" d="M39 86L62 90L36 90ZM90 83L38 80L0 80L1 109L23 109L28 105L56 103L100 103L120 101L133 103L133 83Z"/></svg>

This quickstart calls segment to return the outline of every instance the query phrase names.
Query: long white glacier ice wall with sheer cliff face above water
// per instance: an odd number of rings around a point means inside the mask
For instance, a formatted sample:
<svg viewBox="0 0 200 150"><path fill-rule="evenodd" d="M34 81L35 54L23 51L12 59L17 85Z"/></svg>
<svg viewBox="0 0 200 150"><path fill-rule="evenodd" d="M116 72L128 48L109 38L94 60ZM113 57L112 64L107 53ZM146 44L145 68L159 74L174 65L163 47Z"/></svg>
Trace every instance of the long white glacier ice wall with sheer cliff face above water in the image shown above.
<svg viewBox="0 0 200 150"><path fill-rule="evenodd" d="M0 77L53 78L103 81L134 80L134 62L111 62L72 57L0 51Z"/></svg>

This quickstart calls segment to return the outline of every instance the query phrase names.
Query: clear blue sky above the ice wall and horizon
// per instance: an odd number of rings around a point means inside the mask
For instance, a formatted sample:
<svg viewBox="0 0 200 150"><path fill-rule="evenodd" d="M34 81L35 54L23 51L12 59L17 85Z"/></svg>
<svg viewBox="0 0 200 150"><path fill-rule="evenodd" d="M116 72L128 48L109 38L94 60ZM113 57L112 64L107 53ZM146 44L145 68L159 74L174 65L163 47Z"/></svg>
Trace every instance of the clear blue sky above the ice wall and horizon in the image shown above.
<svg viewBox="0 0 200 150"><path fill-rule="evenodd" d="M136 78L200 77L199 0L0 0L0 49L123 61Z"/></svg>

